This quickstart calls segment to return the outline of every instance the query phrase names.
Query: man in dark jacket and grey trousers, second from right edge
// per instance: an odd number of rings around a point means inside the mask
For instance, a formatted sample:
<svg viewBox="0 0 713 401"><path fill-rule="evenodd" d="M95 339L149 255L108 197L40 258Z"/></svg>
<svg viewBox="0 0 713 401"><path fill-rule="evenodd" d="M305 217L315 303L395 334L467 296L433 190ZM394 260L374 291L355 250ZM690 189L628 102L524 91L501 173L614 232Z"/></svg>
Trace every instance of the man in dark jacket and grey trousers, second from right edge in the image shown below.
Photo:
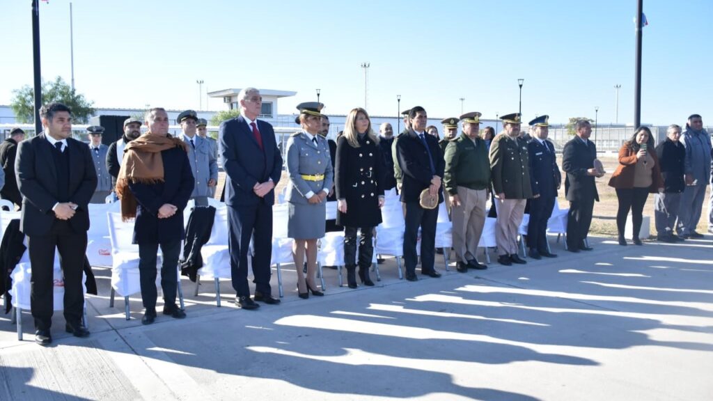
<svg viewBox="0 0 713 401"><path fill-rule="evenodd" d="M654 196L654 217L657 240L665 243L682 241L674 234L678 217L681 193L686 188L684 182L684 159L686 148L679 142L681 127L673 124L666 131L666 140L656 146L661 175L664 178L664 192Z"/></svg>

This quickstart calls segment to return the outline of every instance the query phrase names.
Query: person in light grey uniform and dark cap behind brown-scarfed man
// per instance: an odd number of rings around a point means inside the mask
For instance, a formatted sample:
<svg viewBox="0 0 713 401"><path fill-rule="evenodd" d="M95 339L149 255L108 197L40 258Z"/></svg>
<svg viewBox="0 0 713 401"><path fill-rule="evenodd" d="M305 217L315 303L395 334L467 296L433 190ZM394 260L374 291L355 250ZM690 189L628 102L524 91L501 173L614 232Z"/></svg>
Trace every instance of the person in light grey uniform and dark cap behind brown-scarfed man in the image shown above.
<svg viewBox="0 0 713 401"><path fill-rule="evenodd" d="M215 188L218 181L218 165L215 159L215 152L210 147L210 143L204 138L196 135L196 123L198 116L193 110L186 110L178 115L176 119L183 130L181 138L188 143L188 161L190 161L190 171L193 172L195 186L191 199L195 199L197 205L207 204L207 197L211 195L211 188ZM215 195L215 189L212 192Z"/></svg>

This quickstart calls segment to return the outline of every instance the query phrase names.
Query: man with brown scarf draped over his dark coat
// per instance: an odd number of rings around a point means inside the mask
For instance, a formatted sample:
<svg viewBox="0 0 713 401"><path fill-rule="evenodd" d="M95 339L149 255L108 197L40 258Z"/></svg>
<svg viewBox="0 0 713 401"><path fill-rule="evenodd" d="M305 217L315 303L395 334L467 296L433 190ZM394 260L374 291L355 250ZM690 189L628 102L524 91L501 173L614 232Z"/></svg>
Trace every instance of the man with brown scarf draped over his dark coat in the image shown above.
<svg viewBox="0 0 713 401"><path fill-rule="evenodd" d="M176 305L178 255L185 239L183 209L193 192L188 145L168 134L168 113L152 108L145 113L148 132L126 145L116 180L123 219L135 216L133 243L138 244L141 323L156 319L156 253L161 248L163 314L185 318Z"/></svg>

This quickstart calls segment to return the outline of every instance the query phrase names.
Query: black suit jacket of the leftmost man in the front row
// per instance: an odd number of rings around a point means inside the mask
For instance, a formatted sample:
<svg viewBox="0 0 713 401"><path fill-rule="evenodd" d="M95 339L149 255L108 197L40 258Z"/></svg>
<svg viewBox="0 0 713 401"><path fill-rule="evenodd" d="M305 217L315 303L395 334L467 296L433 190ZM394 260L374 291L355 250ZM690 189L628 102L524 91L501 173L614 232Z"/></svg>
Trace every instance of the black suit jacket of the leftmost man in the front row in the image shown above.
<svg viewBox="0 0 713 401"><path fill-rule="evenodd" d="M26 235L46 235L55 220L52 207L59 200L52 145L41 133L19 144L15 170L22 196L20 230ZM86 143L67 138L69 201L78 208L69 223L76 233L89 229L87 205L96 188L96 169Z"/></svg>

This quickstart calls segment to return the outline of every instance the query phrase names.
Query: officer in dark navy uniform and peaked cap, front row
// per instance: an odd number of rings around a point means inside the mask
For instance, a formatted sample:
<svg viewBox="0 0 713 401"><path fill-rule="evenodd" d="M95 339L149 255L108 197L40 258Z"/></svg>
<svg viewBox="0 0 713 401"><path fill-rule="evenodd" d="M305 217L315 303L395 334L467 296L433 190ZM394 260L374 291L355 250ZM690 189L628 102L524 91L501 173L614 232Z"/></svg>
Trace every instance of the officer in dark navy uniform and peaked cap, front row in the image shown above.
<svg viewBox="0 0 713 401"><path fill-rule="evenodd" d="M540 116L530 121L534 127L533 138L528 143L528 158L530 159L530 184L533 187L533 198L530 203L530 222L528 223L528 247L530 258L556 258L547 246L547 222L552 215L552 209L557 201L557 191L560 189L560 169L557 167L555 146L547 140L549 133L549 116Z"/></svg>

